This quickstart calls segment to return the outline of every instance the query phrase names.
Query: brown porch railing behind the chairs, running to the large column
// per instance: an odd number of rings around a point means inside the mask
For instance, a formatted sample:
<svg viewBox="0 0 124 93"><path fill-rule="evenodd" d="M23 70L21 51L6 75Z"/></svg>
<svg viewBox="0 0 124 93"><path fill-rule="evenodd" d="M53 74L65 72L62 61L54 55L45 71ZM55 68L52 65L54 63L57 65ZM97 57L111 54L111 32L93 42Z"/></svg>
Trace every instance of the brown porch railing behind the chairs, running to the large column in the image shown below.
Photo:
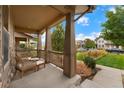
<svg viewBox="0 0 124 93"><path fill-rule="evenodd" d="M47 62L52 63L60 68L63 68L63 53L56 51L39 50L16 50L16 53L20 54L21 57L40 57L47 60Z"/></svg>

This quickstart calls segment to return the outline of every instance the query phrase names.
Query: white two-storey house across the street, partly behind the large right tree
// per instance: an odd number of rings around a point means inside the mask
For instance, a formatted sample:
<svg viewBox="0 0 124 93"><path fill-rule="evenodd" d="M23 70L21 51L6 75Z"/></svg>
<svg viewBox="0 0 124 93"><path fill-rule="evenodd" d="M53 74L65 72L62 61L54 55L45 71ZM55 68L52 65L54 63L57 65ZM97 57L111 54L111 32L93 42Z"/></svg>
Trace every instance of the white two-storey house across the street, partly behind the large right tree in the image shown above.
<svg viewBox="0 0 124 93"><path fill-rule="evenodd" d="M104 40L102 37L98 37L95 39L97 48L104 48L104 49L114 49L119 48L122 49L121 46L117 47L111 41Z"/></svg>

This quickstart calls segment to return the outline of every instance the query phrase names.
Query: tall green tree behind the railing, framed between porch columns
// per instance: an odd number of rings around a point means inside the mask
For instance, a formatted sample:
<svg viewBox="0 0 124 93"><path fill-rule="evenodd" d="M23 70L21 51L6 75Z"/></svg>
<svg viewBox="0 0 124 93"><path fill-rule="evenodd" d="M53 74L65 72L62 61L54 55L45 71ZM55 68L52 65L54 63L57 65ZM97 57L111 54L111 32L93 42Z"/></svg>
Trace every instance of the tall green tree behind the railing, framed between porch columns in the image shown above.
<svg viewBox="0 0 124 93"><path fill-rule="evenodd" d="M58 24L52 33L52 49L62 52L64 50L65 31L62 24Z"/></svg>

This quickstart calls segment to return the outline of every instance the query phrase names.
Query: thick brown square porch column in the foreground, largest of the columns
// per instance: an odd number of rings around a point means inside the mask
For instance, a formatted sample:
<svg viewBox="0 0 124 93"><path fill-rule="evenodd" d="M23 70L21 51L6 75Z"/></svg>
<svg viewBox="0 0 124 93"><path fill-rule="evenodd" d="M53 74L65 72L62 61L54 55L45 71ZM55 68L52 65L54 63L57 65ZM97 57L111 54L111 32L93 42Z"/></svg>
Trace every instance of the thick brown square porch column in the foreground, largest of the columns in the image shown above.
<svg viewBox="0 0 124 93"><path fill-rule="evenodd" d="M76 74L76 47L74 31L74 12L66 15L66 32L64 41L64 75L73 77Z"/></svg>

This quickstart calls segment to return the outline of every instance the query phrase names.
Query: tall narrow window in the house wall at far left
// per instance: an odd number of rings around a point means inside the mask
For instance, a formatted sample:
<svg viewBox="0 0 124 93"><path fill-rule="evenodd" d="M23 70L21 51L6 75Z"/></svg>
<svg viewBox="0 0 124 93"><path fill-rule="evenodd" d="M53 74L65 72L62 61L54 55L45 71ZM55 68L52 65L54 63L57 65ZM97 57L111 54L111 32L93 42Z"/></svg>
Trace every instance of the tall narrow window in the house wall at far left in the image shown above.
<svg viewBox="0 0 124 93"><path fill-rule="evenodd" d="M2 30L2 55L3 64L5 65L9 59L9 32L8 32L8 6L2 6L2 19L3 19L3 30Z"/></svg>

